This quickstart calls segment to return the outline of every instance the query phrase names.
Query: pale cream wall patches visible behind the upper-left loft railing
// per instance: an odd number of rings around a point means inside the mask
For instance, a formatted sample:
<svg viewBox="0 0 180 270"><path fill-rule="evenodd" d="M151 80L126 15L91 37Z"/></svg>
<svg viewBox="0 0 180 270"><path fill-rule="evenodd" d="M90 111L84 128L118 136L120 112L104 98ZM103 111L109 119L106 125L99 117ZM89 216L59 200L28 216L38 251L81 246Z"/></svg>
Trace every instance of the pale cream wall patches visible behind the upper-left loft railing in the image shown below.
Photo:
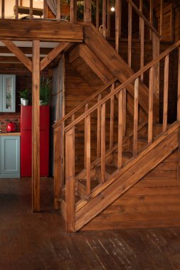
<svg viewBox="0 0 180 270"><path fill-rule="evenodd" d="M23 6L29 6L29 0L23 0ZM14 16L14 6L16 0L5 1L5 17ZM33 7L43 9L43 1L33 1ZM0 0L0 15L1 15L1 0Z"/></svg>

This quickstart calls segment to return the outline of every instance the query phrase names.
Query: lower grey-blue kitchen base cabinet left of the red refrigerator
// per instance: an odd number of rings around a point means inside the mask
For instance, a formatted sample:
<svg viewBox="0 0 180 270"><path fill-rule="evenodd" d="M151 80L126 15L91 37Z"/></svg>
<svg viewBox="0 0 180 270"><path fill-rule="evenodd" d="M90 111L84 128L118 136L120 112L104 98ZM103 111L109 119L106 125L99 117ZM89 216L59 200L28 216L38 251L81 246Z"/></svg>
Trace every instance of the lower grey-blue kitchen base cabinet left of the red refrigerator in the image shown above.
<svg viewBox="0 0 180 270"><path fill-rule="evenodd" d="M20 178L20 136L0 136L0 178Z"/></svg>

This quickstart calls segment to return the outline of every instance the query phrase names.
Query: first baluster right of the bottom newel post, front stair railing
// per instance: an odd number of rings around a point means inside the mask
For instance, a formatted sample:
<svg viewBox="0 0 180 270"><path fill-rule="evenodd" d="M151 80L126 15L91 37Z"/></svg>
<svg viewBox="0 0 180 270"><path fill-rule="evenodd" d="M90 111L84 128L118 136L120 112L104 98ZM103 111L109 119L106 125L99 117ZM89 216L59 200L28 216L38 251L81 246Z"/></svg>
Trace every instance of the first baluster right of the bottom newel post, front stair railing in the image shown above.
<svg viewBox="0 0 180 270"><path fill-rule="evenodd" d="M85 117L86 192L90 194L90 114Z"/></svg>

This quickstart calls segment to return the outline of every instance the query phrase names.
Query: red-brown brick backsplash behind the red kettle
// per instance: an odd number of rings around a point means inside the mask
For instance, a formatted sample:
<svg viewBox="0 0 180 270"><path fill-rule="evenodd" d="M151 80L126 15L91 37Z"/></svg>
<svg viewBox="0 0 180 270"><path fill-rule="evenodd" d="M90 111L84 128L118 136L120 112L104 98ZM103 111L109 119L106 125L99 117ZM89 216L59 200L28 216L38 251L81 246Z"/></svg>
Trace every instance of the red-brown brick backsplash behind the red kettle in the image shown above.
<svg viewBox="0 0 180 270"><path fill-rule="evenodd" d="M7 124L12 121L16 123L16 131L20 131L20 112L0 113L0 129L6 131Z"/></svg>

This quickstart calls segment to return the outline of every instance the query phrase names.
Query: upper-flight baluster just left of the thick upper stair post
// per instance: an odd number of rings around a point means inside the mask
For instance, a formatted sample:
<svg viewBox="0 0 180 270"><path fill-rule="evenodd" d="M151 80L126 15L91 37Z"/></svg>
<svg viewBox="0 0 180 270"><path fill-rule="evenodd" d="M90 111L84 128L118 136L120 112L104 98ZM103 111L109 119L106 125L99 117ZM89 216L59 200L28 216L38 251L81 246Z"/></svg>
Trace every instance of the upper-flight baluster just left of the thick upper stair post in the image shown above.
<svg viewBox="0 0 180 270"><path fill-rule="evenodd" d="M142 12L143 8L143 0L140 0L140 11ZM139 17L139 32L140 32L140 39L141 39L141 59L140 59L140 68L144 67L144 20L143 18ZM141 80L143 81L144 73L141 75Z"/></svg>

